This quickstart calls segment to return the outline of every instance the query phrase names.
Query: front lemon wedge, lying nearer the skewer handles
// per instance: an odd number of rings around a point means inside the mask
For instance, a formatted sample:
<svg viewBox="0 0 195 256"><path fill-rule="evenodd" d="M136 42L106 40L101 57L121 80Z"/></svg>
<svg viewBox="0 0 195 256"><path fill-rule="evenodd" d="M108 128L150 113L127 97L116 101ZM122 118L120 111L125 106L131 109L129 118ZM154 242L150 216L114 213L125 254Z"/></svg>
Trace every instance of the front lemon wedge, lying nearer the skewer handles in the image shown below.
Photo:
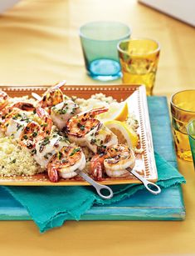
<svg viewBox="0 0 195 256"><path fill-rule="evenodd" d="M138 134L135 133L132 128L129 128L126 123L117 120L110 120L104 124L107 128L110 128L113 133L115 133L119 143L126 144L129 148L136 148L139 141Z"/></svg>

